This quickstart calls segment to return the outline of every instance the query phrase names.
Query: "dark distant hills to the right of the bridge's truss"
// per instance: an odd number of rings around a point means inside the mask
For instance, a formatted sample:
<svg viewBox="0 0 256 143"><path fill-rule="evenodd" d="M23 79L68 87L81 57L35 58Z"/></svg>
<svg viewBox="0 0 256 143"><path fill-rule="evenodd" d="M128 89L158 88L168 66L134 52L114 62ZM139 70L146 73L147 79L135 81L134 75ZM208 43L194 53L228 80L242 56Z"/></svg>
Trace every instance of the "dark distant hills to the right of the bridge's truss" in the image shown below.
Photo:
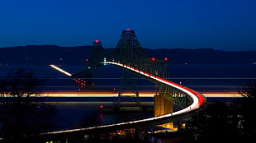
<svg viewBox="0 0 256 143"><path fill-rule="evenodd" d="M145 49L155 58L167 57L171 63L219 64L219 63L253 63L256 62L256 51L226 52L212 48L198 49Z"/></svg>

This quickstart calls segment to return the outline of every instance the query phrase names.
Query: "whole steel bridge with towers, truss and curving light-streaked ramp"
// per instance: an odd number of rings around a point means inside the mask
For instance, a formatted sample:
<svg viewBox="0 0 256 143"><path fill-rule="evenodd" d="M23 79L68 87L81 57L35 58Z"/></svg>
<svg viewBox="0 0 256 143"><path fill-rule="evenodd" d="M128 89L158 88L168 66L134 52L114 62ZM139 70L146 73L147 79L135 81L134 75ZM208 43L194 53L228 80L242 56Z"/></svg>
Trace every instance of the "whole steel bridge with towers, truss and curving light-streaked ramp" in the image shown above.
<svg viewBox="0 0 256 143"><path fill-rule="evenodd" d="M167 61L167 58L164 58L163 60L150 58L147 53L143 51L143 48L135 35L135 31L127 29L122 31L121 39L119 40L116 48L111 52L105 52L101 42L99 40L95 40L93 42L92 56L88 60L86 69L83 71L79 71L78 73L72 75L69 72L63 71L59 67L50 65L51 67L54 67L72 78L87 75L95 67L104 65L121 67L124 71L121 80L121 90L119 90L118 94L119 99L125 96L122 94L122 90L132 90L134 96L139 97L136 85L126 86L128 81L130 81L130 83L135 83L132 81L134 78L131 78L132 75L135 74L144 77L146 80L154 82L156 89L155 95L176 103L183 108L178 111L161 114L153 118L145 118L136 121L114 123L111 125L97 127L51 131L42 133L40 136L44 136L43 138L45 139L55 138L57 140L60 138L72 138L73 135L83 137L85 135L93 135L94 133L94 136L96 136L95 134L102 131L116 131L129 128L143 130L145 127L152 127L168 122L174 122L191 116L193 112L197 111L203 106L203 104L206 103L206 99L203 95L195 90L191 90L183 85L178 85L172 81L169 81L170 78L168 74ZM127 75L130 76L127 77ZM121 100L119 102L119 104L121 104ZM137 103L139 104L140 102L138 101Z"/></svg>

